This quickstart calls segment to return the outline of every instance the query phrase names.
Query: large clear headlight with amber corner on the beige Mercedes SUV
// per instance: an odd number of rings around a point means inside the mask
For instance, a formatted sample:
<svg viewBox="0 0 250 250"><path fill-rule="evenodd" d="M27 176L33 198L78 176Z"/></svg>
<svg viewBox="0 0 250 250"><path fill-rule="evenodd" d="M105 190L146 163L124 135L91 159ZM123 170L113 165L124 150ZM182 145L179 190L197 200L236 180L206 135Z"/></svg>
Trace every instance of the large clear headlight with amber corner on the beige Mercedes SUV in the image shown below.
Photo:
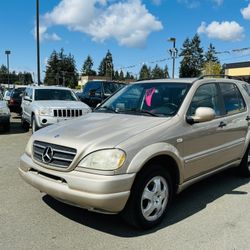
<svg viewBox="0 0 250 250"><path fill-rule="evenodd" d="M115 170L120 168L126 155L120 149L104 149L87 155L78 167L97 170Z"/></svg>

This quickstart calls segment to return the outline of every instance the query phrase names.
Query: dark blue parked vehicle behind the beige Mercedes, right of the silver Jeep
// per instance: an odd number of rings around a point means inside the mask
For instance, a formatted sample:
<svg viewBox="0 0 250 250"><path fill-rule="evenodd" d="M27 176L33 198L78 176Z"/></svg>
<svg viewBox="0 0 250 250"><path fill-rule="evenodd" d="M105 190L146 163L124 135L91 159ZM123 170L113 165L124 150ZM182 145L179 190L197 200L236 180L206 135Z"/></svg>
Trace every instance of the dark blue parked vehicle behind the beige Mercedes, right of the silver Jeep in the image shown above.
<svg viewBox="0 0 250 250"><path fill-rule="evenodd" d="M121 82L93 80L85 84L83 92L78 97L91 108L95 108L99 103L124 86L125 83Z"/></svg>

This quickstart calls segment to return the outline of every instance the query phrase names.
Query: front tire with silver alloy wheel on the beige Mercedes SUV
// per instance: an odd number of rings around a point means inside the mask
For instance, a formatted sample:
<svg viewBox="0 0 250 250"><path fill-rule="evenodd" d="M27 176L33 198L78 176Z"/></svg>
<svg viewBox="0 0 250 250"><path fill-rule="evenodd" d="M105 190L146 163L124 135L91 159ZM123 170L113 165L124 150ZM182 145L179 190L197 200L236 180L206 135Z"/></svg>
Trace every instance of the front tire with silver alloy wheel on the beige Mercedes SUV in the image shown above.
<svg viewBox="0 0 250 250"><path fill-rule="evenodd" d="M173 184L169 173L152 164L135 179L122 216L137 228L155 227L167 213L172 196Z"/></svg>

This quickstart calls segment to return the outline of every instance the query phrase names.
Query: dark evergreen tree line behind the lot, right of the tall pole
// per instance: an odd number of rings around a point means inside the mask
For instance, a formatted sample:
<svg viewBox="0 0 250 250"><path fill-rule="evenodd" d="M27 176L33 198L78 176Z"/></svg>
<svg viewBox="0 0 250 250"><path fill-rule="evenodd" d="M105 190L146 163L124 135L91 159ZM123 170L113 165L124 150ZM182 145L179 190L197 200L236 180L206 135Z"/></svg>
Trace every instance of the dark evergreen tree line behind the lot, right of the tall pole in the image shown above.
<svg viewBox="0 0 250 250"><path fill-rule="evenodd" d="M201 46L198 34L193 38L186 38L180 49L181 58L179 77L198 77L201 74L221 74L222 66L217 58L215 47L210 44L206 51ZM81 68L81 76L104 76L116 81L143 80L169 78L168 65L161 68L155 65L153 68L143 64L136 76L123 70L115 70L112 53L108 50L101 60L97 70L93 69L93 59L90 55L84 60ZM71 88L76 87L79 74L76 70L76 62L72 54L66 55L64 50L53 51L50 55L46 72L45 85L63 85Z"/></svg>

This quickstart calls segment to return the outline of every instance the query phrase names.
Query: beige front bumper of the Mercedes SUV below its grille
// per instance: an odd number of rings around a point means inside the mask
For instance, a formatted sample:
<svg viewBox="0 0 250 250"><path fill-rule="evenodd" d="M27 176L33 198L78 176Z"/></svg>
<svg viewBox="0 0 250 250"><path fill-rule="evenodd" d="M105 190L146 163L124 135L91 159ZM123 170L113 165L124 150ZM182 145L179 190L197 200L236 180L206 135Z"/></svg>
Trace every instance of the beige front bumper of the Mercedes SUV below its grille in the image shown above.
<svg viewBox="0 0 250 250"><path fill-rule="evenodd" d="M30 185L62 202L102 213L123 210L135 174L103 176L78 171L45 169L27 155L21 157L19 173Z"/></svg>

